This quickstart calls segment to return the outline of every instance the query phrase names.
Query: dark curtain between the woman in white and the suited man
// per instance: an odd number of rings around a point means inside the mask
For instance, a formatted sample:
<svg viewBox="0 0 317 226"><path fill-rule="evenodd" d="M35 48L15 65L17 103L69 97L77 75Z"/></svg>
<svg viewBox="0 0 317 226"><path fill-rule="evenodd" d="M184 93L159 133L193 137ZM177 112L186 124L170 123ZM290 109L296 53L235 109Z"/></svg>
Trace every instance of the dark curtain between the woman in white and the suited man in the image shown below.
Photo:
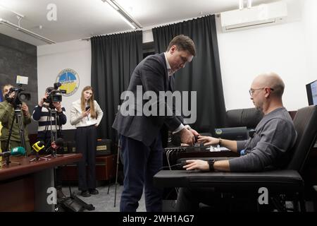
<svg viewBox="0 0 317 226"><path fill-rule="evenodd" d="M98 137L116 141L111 126L122 102L120 95L128 89L130 76L142 61L142 31L92 37L91 41L94 98L104 111Z"/></svg>

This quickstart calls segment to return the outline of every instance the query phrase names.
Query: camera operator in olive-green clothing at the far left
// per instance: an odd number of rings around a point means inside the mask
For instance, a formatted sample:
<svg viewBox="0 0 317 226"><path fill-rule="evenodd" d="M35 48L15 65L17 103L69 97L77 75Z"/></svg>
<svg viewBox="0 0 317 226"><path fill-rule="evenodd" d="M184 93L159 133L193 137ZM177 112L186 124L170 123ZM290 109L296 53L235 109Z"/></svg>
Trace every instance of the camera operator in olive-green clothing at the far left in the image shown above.
<svg viewBox="0 0 317 226"><path fill-rule="evenodd" d="M1 150L2 151L8 151L4 150L6 148L6 142L8 140L9 131L11 128L11 122L13 120L13 117L15 117L14 114L14 108L15 108L15 92L11 92L10 88L13 88L13 85L7 84L4 85L2 88L2 93L4 95L4 101L0 102L0 121L2 123L2 129L1 129ZM27 133L27 124L31 123L31 117L29 113L29 108L25 104L25 102L22 103L20 106L21 110L23 112L22 118L23 118L23 126L24 126L24 136L25 136L25 150L27 152L27 155L30 155L31 153L31 146L30 146L30 140ZM13 127L12 127L12 133L9 143L9 150L11 148L15 148L18 146L22 146L21 139L20 139L20 133L19 133L19 125L17 120L13 121Z"/></svg>

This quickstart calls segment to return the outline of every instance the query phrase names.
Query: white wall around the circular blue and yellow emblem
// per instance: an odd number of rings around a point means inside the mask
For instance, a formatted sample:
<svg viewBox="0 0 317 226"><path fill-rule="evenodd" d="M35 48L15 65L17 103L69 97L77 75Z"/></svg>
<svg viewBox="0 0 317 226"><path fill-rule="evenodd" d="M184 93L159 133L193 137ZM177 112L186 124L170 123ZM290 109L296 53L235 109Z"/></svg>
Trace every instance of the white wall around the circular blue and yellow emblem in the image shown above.
<svg viewBox="0 0 317 226"><path fill-rule="evenodd" d="M56 83L58 73L63 69L73 69L80 79L80 86L76 93L70 97L63 97L62 105L66 108L68 117L67 124L63 129L75 129L69 123L70 108L73 101L80 98L81 91L86 85L91 84L91 61L90 42L74 40L58 44L47 44L37 47L37 85L39 98L45 89Z"/></svg>

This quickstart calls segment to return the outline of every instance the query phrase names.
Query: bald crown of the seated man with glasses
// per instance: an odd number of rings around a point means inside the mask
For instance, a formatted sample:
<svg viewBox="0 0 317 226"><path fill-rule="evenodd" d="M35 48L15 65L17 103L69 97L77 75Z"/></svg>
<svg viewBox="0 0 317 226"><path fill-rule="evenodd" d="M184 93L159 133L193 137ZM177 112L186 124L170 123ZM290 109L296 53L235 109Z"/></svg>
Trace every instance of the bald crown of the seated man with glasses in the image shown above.
<svg viewBox="0 0 317 226"><path fill-rule="evenodd" d="M254 78L253 84L257 87L272 88L273 92L271 93L271 95L276 97L281 98L284 93L284 82L277 73L263 73L259 76L256 76L256 78Z"/></svg>

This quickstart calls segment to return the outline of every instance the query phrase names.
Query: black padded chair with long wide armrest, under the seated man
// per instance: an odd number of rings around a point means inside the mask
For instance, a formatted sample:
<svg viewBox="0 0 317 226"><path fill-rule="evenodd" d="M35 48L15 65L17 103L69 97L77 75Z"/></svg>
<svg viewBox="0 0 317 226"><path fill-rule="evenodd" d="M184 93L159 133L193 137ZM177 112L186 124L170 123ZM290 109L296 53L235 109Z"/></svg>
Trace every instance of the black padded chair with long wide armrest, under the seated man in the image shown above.
<svg viewBox="0 0 317 226"><path fill-rule="evenodd" d="M276 209L287 211L285 201L292 201L294 210L306 211L304 180L301 174L309 150L316 141L316 121L317 106L298 110L294 117L297 142L291 150L292 157L285 169L247 173L161 170L154 176L154 184L158 187L213 187L226 193L237 194L241 191L247 196L253 194L256 198L260 196L259 188L266 187ZM257 199L254 201L258 203Z"/></svg>

